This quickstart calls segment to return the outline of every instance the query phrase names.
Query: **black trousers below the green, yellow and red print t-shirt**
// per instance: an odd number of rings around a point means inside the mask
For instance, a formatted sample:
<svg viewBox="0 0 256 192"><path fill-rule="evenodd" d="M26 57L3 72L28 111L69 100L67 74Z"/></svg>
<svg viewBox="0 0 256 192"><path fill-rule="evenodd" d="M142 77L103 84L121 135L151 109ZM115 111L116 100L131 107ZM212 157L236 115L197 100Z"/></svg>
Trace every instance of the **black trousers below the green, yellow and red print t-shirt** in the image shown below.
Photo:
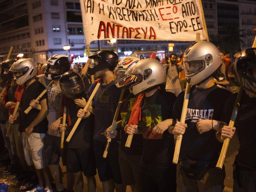
<svg viewBox="0 0 256 192"><path fill-rule="evenodd" d="M176 192L176 165L140 161L139 172L143 192Z"/></svg>

